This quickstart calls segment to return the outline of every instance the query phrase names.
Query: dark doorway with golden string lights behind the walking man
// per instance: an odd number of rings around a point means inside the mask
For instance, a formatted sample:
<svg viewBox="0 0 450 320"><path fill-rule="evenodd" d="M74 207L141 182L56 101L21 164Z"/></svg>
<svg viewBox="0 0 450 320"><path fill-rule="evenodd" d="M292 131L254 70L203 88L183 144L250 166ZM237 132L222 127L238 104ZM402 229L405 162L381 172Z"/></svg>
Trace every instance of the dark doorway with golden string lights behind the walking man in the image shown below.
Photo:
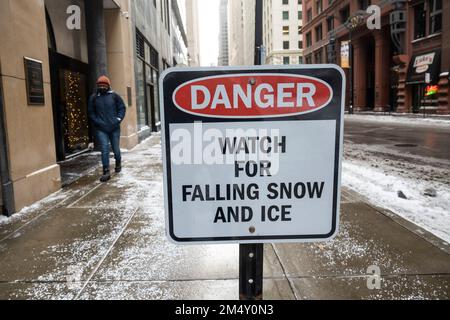
<svg viewBox="0 0 450 320"><path fill-rule="evenodd" d="M88 65L50 50L56 154L64 161L88 151Z"/></svg>

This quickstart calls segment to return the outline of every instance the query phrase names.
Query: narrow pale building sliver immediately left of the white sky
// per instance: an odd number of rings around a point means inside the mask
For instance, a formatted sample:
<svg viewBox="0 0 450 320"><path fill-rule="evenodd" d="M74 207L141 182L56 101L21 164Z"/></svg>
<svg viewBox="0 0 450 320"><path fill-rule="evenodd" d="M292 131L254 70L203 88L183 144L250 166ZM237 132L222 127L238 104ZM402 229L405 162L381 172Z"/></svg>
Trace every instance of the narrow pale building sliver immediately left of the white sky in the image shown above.
<svg viewBox="0 0 450 320"><path fill-rule="evenodd" d="M200 33L198 0L186 0L186 32L188 39L189 66L200 66Z"/></svg>

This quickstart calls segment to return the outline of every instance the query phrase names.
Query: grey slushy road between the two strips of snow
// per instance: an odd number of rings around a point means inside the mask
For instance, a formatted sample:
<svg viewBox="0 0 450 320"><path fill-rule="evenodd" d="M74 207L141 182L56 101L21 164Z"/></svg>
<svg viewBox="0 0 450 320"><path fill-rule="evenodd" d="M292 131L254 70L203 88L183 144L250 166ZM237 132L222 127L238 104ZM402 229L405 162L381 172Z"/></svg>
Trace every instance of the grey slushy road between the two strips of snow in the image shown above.
<svg viewBox="0 0 450 320"><path fill-rule="evenodd" d="M385 164L408 178L421 178L450 186L450 122L382 122L347 116L345 158ZM383 118L381 118L383 119ZM369 121L368 121L369 120Z"/></svg>

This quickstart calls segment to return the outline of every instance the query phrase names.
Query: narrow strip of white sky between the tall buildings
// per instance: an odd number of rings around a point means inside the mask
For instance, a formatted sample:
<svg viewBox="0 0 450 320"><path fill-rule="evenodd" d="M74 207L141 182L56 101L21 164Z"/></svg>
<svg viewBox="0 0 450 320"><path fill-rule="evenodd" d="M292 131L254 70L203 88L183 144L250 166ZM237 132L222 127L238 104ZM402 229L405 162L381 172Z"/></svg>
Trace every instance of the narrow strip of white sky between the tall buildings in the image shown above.
<svg viewBox="0 0 450 320"><path fill-rule="evenodd" d="M217 65L219 57L220 0L199 0L200 61L208 67Z"/></svg>

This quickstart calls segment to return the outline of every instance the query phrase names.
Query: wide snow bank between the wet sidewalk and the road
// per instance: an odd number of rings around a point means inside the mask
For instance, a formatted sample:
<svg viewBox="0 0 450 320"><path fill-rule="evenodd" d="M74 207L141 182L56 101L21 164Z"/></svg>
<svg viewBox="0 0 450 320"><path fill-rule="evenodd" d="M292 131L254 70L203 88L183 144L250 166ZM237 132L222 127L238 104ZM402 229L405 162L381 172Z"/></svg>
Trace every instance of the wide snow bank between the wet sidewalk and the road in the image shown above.
<svg viewBox="0 0 450 320"><path fill-rule="evenodd" d="M373 147L347 143L343 185L450 242L450 164L410 157L405 161L398 155L387 157ZM429 188L436 190L435 198L424 195ZM399 191L407 199L400 198Z"/></svg>

